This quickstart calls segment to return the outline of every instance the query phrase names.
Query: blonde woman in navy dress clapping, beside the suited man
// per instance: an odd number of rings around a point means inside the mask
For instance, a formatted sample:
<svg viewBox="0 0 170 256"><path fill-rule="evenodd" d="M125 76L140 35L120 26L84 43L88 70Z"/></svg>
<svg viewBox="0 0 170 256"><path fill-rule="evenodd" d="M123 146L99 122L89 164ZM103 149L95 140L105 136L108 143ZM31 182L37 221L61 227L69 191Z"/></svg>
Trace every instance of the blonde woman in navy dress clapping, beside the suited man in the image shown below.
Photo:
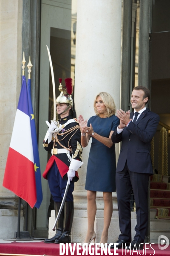
<svg viewBox="0 0 170 256"><path fill-rule="evenodd" d="M79 116L83 148L88 145L92 137L85 183L88 198L88 232L84 242L90 244L93 239L95 241L96 192L102 191L104 227L100 243L105 244L108 241L108 228L113 212L112 192L116 191L116 156L111 136L119 125L119 118L114 115L116 106L109 93L103 92L96 96L94 111L96 116L92 116L88 122L81 115Z"/></svg>

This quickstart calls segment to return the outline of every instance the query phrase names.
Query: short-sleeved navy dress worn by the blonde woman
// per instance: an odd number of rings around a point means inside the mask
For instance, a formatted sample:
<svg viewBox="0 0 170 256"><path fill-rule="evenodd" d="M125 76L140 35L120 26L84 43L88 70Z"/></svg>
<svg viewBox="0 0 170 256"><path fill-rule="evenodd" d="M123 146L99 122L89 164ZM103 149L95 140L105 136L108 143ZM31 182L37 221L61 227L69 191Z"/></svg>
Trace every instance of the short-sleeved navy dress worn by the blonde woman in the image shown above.
<svg viewBox="0 0 170 256"><path fill-rule="evenodd" d="M91 124L97 134L107 138L111 131L116 130L119 123L119 118L115 115L106 118L92 116L88 120L88 126ZM91 191L115 192L115 176L115 145L113 144L111 148L108 148L92 137L85 189Z"/></svg>

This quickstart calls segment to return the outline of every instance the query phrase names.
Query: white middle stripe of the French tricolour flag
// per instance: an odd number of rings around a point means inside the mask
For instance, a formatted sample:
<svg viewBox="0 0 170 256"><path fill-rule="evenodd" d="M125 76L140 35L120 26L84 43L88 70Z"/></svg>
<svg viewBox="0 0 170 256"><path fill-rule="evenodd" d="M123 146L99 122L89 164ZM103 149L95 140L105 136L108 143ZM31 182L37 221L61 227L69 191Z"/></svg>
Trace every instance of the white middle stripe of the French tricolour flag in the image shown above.
<svg viewBox="0 0 170 256"><path fill-rule="evenodd" d="M30 118L17 109L10 147L34 163Z"/></svg>

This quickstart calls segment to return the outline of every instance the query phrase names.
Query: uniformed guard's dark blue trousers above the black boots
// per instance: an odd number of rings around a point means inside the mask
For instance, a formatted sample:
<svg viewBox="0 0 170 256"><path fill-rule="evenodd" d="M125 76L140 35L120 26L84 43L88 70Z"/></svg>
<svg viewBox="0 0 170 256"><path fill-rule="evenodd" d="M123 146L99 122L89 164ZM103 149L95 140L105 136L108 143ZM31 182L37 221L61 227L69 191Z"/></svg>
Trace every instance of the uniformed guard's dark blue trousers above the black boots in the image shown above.
<svg viewBox="0 0 170 256"><path fill-rule="evenodd" d="M67 180L62 179L55 161L50 171L47 174L47 179L48 179L48 185L50 188L51 195L53 196L53 200L55 202L62 202L62 198L64 196L65 188L67 185ZM73 191L74 191L74 182L71 181L65 202L73 201Z"/></svg>

